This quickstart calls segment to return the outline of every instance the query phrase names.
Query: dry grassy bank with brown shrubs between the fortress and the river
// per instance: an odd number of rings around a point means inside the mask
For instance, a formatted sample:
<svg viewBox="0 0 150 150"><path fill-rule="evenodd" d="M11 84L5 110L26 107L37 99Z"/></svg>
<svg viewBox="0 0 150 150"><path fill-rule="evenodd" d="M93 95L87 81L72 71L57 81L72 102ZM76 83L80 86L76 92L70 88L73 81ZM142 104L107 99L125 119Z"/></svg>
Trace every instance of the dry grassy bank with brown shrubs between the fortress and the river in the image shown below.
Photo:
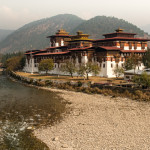
<svg viewBox="0 0 150 150"><path fill-rule="evenodd" d="M105 96L109 95L112 96L112 98L127 97L133 100L143 100L143 101L150 100L149 90L142 90L136 88L122 88L116 86L95 87L92 84L92 82L98 80L102 82L104 81L108 82L107 78L93 77L95 80L92 80L91 77L90 80L84 81L82 79L83 82L81 82L81 79L77 79L77 77L74 78L74 80L72 80L72 78L68 76L58 77L58 76L43 76L39 74L31 75L29 73L22 73L22 72L15 73L14 77L19 80L22 80L25 83L32 84L35 86L65 89L65 90L76 91L76 92L84 92L88 94L102 94ZM113 82L114 85L115 83L117 84L117 82L123 82L123 80L116 80L116 79L113 80L114 80Z"/></svg>

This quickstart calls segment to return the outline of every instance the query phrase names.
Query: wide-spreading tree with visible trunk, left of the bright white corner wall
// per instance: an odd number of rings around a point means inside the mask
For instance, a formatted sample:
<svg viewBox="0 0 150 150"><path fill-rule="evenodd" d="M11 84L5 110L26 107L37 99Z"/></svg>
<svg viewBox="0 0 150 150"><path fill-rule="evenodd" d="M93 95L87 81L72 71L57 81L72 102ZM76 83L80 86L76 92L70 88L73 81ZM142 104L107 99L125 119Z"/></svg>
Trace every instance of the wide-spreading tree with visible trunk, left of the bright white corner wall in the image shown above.
<svg viewBox="0 0 150 150"><path fill-rule="evenodd" d="M79 67L80 75L84 76L86 74L87 80L89 79L89 74L93 73L94 75L97 75L100 72L100 67L97 64L93 64L91 62L88 62L87 64L81 65Z"/></svg>

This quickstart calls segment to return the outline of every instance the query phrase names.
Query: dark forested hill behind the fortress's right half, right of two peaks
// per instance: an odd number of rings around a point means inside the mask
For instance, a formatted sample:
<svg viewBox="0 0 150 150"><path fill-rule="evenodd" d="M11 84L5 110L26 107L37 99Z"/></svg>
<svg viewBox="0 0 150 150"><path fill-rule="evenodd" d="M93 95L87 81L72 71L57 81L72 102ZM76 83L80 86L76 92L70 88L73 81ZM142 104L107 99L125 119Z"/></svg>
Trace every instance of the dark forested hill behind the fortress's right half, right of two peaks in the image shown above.
<svg viewBox="0 0 150 150"><path fill-rule="evenodd" d="M103 38L102 35L105 33L114 32L118 27L124 29L125 32L137 33L141 37L147 35L143 30L123 19L106 16L96 16L88 21L85 21L76 27L72 33L81 30L90 34L91 38L99 39Z"/></svg>

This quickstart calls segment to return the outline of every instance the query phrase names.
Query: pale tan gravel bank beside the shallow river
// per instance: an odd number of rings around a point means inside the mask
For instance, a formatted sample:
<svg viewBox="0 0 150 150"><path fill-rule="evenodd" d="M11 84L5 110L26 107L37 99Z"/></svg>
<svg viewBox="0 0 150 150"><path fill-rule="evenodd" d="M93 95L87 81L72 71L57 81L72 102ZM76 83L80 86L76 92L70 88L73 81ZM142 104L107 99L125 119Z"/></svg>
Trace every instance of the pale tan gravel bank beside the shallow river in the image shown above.
<svg viewBox="0 0 150 150"><path fill-rule="evenodd" d="M150 103L58 89L71 114L34 133L50 150L148 150Z"/></svg>

